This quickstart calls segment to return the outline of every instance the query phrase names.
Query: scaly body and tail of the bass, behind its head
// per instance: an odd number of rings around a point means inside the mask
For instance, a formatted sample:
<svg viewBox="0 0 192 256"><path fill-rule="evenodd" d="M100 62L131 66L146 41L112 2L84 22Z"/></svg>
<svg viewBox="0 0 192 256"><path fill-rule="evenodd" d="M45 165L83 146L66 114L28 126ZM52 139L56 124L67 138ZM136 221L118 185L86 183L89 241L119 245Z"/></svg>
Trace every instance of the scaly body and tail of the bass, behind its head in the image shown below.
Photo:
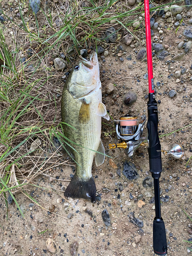
<svg viewBox="0 0 192 256"><path fill-rule="evenodd" d="M79 121L81 100L74 99L66 86L63 88L61 99L62 122L70 125L63 124L63 130L65 136L75 143L68 141L75 149L72 150L72 153L76 161L76 173L65 191L65 196L96 201L92 164L94 151L97 151L99 147L101 136L101 116L97 115L98 105L102 99L101 90L95 90L84 99L90 102L90 119L87 123Z"/></svg>

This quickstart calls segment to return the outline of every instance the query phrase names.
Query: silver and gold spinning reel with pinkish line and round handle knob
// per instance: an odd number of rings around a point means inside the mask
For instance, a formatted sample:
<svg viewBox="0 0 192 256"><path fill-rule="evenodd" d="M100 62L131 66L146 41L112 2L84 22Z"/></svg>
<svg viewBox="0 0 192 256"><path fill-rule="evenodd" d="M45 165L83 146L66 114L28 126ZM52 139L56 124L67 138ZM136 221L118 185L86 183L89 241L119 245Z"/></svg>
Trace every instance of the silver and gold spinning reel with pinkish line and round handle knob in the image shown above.
<svg viewBox="0 0 192 256"><path fill-rule="evenodd" d="M145 115L141 116L140 119L125 115L120 117L119 120L115 120L117 139L121 142L109 144L109 148L124 148L125 154L132 158L140 145L148 145L147 138L141 137L145 122ZM178 143L174 143L168 151L161 150L161 152L165 156L170 155L175 159L180 159L184 155L183 147Z"/></svg>

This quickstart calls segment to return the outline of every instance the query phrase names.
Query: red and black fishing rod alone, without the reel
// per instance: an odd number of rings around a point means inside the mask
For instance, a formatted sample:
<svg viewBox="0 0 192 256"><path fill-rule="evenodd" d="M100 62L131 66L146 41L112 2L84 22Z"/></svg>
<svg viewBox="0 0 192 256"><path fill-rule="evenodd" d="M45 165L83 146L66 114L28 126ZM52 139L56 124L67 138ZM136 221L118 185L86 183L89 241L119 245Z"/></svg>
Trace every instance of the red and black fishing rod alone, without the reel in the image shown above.
<svg viewBox="0 0 192 256"><path fill-rule="evenodd" d="M158 136L158 110L155 100L153 62L152 62L152 42L150 27L150 6L149 0L144 0L145 7L145 34L147 50L148 68L148 102L147 102L147 131L148 131L148 156L150 160L150 172L154 179L155 193L155 219L153 222L153 249L157 255L167 254L167 241L165 224L161 217L159 178L162 172L161 144Z"/></svg>

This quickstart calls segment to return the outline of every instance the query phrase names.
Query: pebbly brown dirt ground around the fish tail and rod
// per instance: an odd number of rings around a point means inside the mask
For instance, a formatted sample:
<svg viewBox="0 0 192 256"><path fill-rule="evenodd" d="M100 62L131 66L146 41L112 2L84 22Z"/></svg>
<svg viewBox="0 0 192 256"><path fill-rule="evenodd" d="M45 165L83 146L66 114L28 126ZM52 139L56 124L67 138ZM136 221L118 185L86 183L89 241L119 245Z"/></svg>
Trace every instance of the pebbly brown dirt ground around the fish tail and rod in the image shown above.
<svg viewBox="0 0 192 256"><path fill-rule="evenodd" d="M160 89L156 87L156 100L160 100L158 104L159 111L159 135L169 134L177 131L191 123L192 102L191 102L191 81L188 70L191 67L191 52L186 54L182 60L170 62L168 65L166 60L172 60L173 55L179 53L176 42L178 37L182 35L183 29L179 29L178 33L167 30L164 34L163 45L167 45L167 51L171 54L164 60L160 61L156 57L153 63L155 84L163 82ZM153 40L153 39L152 39ZM136 41L135 41L136 42ZM123 46L123 50L119 51L119 45ZM139 45L135 50L139 51L145 46ZM147 115L147 80L143 79L143 75L147 73L147 63L145 61L136 60L136 53L132 48L119 41L111 44L107 49L109 55L105 57L105 62L101 62L100 79L102 82L103 102L106 109L114 119L118 119L124 114L131 114L140 117ZM119 60L117 54L121 54L124 61ZM115 55L114 55L115 54ZM126 56L132 56L131 60L127 60ZM133 64L133 62L135 64ZM132 65L132 69L128 66ZM176 78L167 76L170 73L180 70L180 67L186 68L187 72L182 75L184 83L176 83ZM139 80L139 82L138 82ZM114 91L107 95L106 86L109 83L115 84ZM177 96L170 98L168 94L174 89ZM62 91L62 86L60 86ZM137 94L137 101L131 106L124 106L122 98L124 94L132 90ZM159 95L159 93L162 93ZM187 97L186 97L187 96ZM60 99L58 99L58 112L60 112ZM121 149L109 150L109 143L117 142L113 121L103 119L102 135L105 152L111 156L114 164L110 162L110 158L106 157L104 163L96 167L93 163L93 177L95 178L98 200L92 204L83 199L71 199L68 201L63 196L63 190L67 187L70 180L70 174L74 174L75 164L71 162L67 155L63 155L66 164L59 164L46 171L45 175L36 179L36 184L41 188L32 188L30 191L33 198L39 205L31 205L32 201L22 193L16 194L16 200L19 205L25 208L22 218L18 208L14 203L9 205L8 220L6 219L7 208L5 200L0 195L0 255L91 255L91 256L141 256L154 255L153 252L153 220L155 217L154 203L151 199L154 196L154 187L144 187L143 180L151 177L148 172L148 154L146 146L140 146L132 159L127 158ZM147 136L146 125L144 136ZM161 147L167 150L174 142L181 143L184 147L185 154L180 160L173 160L162 155L163 172L160 178L160 187L162 196L169 197L168 202L162 202L162 218L165 223L166 237L168 243L167 255L187 255L187 243L192 236L187 232L190 220L186 217L183 210L192 216L191 199L192 199L192 183L191 183L191 161L185 167L188 158L191 156L191 126L185 127L181 131L162 137L160 139ZM52 159L52 162L54 159ZM125 161L134 163L139 178L137 180L127 180L122 174L123 164ZM119 175L120 169L120 175ZM119 182L123 190L118 189ZM102 189L107 188L107 189ZM165 190L166 189L166 190ZM104 191L108 191L105 193ZM150 193L151 196L146 195ZM133 199L130 199L130 193ZM142 197L138 197L142 195ZM142 200L144 205L139 208L138 200ZM42 208L44 207L44 208ZM106 209L109 212L111 225L106 227L103 223L101 213ZM53 211L50 214L48 211ZM143 227L140 228L130 221L129 215L134 212L136 218L143 221ZM44 232L45 231L45 232ZM56 246L56 253L51 253L46 241L51 238ZM76 246L76 249L74 249ZM72 250L76 254L72 254ZM71 253L71 254L70 254Z"/></svg>

